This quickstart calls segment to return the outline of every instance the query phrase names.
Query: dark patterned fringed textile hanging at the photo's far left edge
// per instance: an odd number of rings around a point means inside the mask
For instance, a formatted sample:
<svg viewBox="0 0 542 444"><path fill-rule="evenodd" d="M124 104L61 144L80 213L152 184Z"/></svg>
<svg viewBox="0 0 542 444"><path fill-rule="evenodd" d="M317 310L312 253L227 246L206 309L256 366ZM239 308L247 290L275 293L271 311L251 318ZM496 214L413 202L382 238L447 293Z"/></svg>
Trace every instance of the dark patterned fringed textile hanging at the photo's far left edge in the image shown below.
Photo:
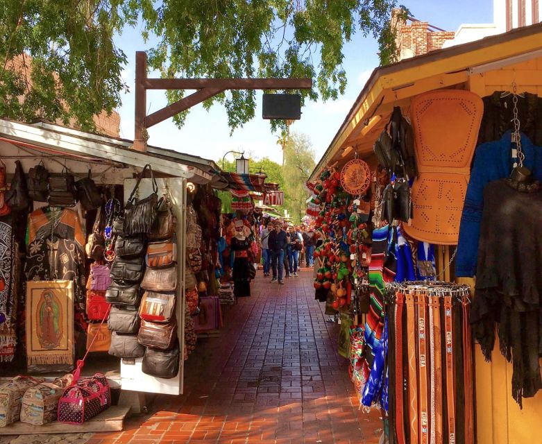
<svg viewBox="0 0 542 444"><path fill-rule="evenodd" d="M6 217L0 221L0 362L12 361L17 345L16 246L12 219Z"/></svg>

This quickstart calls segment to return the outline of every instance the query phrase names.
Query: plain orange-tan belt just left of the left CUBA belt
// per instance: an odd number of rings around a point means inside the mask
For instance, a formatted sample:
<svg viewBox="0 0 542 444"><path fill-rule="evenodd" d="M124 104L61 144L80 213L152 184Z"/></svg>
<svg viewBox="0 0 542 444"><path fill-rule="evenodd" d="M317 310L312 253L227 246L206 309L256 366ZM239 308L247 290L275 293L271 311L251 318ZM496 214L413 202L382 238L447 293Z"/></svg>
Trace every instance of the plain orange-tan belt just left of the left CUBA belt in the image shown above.
<svg viewBox="0 0 542 444"><path fill-rule="evenodd" d="M418 377L416 375L416 318L412 291L406 295L407 304L407 356L408 356L408 391L409 391L409 427L410 444L418 441Z"/></svg>

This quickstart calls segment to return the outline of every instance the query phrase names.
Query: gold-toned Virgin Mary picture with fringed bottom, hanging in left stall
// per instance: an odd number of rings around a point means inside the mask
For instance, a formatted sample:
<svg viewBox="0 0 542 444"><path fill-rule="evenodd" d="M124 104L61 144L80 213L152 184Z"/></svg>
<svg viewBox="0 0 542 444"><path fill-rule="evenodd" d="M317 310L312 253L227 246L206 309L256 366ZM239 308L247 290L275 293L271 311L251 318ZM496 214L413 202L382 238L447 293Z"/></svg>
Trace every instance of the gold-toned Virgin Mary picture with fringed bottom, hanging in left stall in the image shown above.
<svg viewBox="0 0 542 444"><path fill-rule="evenodd" d="M26 283L26 361L31 366L74 365L74 283Z"/></svg>

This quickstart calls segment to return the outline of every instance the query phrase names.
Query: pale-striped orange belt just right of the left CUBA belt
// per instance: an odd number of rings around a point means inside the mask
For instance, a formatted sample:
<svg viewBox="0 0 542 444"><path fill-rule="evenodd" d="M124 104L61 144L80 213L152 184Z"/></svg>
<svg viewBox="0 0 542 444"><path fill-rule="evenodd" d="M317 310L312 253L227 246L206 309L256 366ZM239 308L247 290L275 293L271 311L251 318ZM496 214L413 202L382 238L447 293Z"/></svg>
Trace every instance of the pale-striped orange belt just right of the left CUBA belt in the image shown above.
<svg viewBox="0 0 542 444"><path fill-rule="evenodd" d="M442 341L441 301L429 296L429 332L431 354L431 431L430 444L443 444L442 432Z"/></svg>

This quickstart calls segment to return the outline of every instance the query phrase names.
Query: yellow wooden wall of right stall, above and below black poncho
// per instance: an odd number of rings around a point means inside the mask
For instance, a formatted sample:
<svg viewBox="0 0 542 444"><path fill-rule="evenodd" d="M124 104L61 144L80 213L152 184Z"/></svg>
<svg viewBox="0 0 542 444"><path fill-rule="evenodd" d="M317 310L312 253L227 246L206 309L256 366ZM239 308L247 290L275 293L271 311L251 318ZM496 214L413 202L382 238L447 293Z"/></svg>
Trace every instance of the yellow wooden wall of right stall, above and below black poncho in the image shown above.
<svg viewBox="0 0 542 444"><path fill-rule="evenodd" d="M487 96L494 91L511 91L514 80L518 93L542 96L542 57L475 74L469 78L468 88L480 96ZM480 346L475 345L478 444L542 444L542 393L524 399L523 410L520 410L511 397L511 375L512 365L500 354L498 343L491 362L484 360Z"/></svg>

